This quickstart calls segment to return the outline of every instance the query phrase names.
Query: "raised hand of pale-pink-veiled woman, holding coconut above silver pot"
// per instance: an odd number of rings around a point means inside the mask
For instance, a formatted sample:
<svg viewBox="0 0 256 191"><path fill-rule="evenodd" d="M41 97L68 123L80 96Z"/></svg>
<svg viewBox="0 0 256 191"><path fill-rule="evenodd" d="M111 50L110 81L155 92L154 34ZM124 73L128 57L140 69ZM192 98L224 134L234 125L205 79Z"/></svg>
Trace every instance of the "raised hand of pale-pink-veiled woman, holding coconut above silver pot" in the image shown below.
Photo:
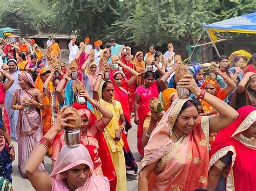
<svg viewBox="0 0 256 191"><path fill-rule="evenodd" d="M71 125L69 123L66 123L66 121L76 121L77 119L75 117L68 117L69 115L73 114L72 111L66 111L67 107L63 107L59 111L59 115L55 121L55 123L52 126L52 129L57 131L58 133L61 132L64 128L73 129L75 128L74 125Z"/></svg>

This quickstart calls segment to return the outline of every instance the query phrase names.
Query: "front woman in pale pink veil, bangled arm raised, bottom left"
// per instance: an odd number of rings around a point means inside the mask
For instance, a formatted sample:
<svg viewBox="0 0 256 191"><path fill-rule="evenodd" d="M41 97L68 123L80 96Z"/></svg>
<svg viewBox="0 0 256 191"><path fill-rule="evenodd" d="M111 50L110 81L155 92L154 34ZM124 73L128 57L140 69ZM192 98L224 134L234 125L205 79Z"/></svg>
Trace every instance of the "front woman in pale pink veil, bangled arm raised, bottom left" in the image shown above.
<svg viewBox="0 0 256 191"><path fill-rule="evenodd" d="M26 173L33 188L46 191L110 190L109 180L106 177L95 175L90 153L83 145L63 146L50 175L38 169L55 136L63 128L74 128L65 121L76 121L76 118L69 116L72 115L72 111L65 111L65 109L66 107L60 110L57 121L42 137L26 164Z"/></svg>

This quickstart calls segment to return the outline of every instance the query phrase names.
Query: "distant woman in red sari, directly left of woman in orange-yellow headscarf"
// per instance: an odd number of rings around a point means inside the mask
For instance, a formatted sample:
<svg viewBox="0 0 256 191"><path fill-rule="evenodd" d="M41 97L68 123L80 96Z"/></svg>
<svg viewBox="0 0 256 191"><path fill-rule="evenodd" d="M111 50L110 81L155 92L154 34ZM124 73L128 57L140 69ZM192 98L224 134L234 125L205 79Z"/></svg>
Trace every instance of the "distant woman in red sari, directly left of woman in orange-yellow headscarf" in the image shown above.
<svg viewBox="0 0 256 191"><path fill-rule="evenodd" d="M126 68L127 66L134 69L133 64L130 62L131 57L129 54L124 53L121 56L121 61L124 63L124 66L122 67L122 71L125 74L125 77L127 80L130 80L132 77L132 73ZM129 94L129 110L130 113L134 112L134 94L135 94L135 84L133 83L129 88L128 88L128 94Z"/></svg>

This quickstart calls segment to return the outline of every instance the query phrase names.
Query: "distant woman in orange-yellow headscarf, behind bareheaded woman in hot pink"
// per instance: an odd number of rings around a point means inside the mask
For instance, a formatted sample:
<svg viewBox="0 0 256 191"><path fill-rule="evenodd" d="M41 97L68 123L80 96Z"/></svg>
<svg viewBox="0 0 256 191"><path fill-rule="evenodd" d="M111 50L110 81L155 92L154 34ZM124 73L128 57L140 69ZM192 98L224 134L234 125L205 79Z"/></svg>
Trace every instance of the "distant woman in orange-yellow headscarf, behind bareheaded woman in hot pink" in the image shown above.
<svg viewBox="0 0 256 191"><path fill-rule="evenodd" d="M144 82L143 74L146 71L146 64L143 61L143 52L137 52L132 63L136 72L139 73L139 76L137 77L137 87L142 86Z"/></svg>

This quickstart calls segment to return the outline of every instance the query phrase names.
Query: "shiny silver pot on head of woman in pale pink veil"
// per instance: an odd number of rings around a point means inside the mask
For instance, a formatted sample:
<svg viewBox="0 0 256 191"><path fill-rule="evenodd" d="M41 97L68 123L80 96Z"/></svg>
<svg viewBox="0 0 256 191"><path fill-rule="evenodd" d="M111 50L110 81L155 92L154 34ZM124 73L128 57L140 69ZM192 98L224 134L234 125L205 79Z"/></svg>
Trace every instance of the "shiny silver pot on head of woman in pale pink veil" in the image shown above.
<svg viewBox="0 0 256 191"><path fill-rule="evenodd" d="M79 129L65 130L64 131L64 141L66 146L76 147L80 144L81 135Z"/></svg>

